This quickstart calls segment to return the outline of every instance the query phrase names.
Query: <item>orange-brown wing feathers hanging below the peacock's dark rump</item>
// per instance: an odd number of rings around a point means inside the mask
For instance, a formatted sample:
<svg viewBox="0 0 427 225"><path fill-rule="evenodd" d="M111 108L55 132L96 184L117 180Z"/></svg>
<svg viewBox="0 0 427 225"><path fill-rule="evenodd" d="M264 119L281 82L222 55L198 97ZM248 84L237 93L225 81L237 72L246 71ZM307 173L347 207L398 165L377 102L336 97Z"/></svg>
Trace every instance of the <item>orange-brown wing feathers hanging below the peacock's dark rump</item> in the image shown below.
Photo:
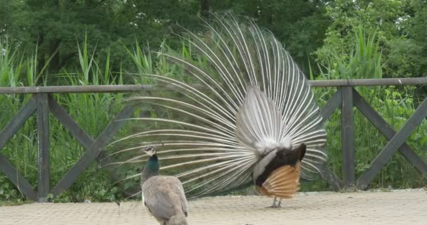
<svg viewBox="0 0 427 225"><path fill-rule="evenodd" d="M299 190L299 174L299 163L279 167L268 176L261 187L258 187L258 191L261 195L292 198Z"/></svg>

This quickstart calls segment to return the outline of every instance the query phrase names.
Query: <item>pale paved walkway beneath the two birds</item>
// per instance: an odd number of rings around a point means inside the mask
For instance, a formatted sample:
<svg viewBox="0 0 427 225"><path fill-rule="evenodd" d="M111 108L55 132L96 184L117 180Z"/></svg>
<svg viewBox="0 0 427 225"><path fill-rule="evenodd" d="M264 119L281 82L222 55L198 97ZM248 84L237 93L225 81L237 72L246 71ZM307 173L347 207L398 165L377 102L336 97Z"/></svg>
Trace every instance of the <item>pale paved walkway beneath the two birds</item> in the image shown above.
<svg viewBox="0 0 427 225"><path fill-rule="evenodd" d="M280 209L272 199L227 196L190 201L189 224L427 224L427 192L300 193ZM0 207L1 225L157 224L138 202L34 203Z"/></svg>

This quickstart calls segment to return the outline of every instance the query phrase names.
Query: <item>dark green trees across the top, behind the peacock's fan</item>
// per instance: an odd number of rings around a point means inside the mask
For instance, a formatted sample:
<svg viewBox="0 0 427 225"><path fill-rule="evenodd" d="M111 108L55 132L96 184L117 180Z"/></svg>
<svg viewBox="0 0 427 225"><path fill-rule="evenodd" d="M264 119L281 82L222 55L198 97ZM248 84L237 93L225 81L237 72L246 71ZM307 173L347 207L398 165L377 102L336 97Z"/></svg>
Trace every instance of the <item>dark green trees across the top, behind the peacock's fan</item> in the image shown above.
<svg viewBox="0 0 427 225"><path fill-rule="evenodd" d="M86 33L91 37L88 45L97 46L98 53L112 50L112 68L117 71L122 63L133 66L122 45L131 46L138 39L159 46L164 37L178 32L177 23L197 30L202 28L197 15L209 20L209 14L202 11L232 10L255 18L277 34L305 70L307 56L322 45L324 30L329 25L323 1L206 2L207 8L199 0L0 0L0 37L8 35L13 44L24 46L27 51L39 46L37 67L43 68L50 58L46 70L53 74L79 64L75 41L84 41L86 37L81 34ZM179 39L169 38L173 48L180 44Z"/></svg>

